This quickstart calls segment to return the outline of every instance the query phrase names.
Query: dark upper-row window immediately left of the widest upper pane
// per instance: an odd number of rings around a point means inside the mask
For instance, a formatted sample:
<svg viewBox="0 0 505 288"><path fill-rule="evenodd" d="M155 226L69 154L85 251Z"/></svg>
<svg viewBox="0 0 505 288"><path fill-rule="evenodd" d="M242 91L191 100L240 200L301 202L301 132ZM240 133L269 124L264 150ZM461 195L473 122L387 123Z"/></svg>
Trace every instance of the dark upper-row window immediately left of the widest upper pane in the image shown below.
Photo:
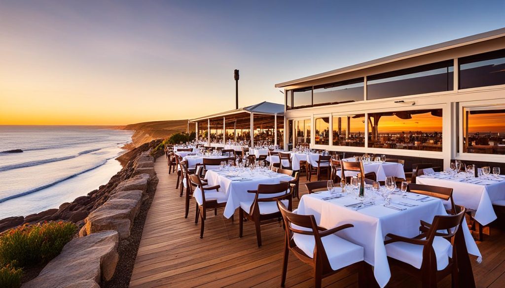
<svg viewBox="0 0 505 288"><path fill-rule="evenodd" d="M314 87L314 106L363 101L363 78Z"/></svg>

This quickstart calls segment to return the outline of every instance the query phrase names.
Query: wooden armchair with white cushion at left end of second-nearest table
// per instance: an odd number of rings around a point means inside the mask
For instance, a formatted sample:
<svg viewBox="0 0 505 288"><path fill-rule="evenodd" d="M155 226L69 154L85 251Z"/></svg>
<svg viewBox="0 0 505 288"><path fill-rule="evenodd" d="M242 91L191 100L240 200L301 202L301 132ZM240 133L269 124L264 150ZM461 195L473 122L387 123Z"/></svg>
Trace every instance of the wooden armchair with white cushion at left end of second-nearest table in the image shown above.
<svg viewBox="0 0 505 288"><path fill-rule="evenodd" d="M201 219L200 238L204 238L207 210L213 209L214 215L216 215L217 208L225 207L228 198L226 197L226 193L219 192L219 188L221 188L219 185L204 186L197 175L189 175L189 180L192 185L196 186L195 191L192 193L194 199L196 200L196 216L194 222L195 224L198 224L199 215Z"/></svg>

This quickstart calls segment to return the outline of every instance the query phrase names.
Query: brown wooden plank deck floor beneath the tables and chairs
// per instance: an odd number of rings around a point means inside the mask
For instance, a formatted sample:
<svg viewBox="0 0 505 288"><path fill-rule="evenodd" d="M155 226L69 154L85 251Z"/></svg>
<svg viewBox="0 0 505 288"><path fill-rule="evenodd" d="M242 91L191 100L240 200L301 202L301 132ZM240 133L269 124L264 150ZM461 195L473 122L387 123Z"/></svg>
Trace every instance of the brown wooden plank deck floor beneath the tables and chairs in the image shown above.
<svg viewBox="0 0 505 288"><path fill-rule="evenodd" d="M165 157L155 162L160 182L147 214L138 249L131 287L278 287L284 231L280 224L262 226L263 246L258 248L254 225L244 223L244 236L238 238L238 220L224 218L223 211L206 221L204 239L195 225L194 200L184 218L184 198L175 189L177 176L168 174ZM304 178L305 180L305 178ZM305 194L304 185L300 193ZM294 201L296 207L298 201ZM212 213L211 213L212 214ZM235 219L238 217L235 216ZM505 233L492 228L490 237L479 243L483 262L471 257L478 287L505 286ZM323 280L324 286L355 287L353 271ZM310 267L290 255L286 287L311 287ZM389 287L420 287L421 284L401 271L392 271ZM450 287L446 277L439 287Z"/></svg>

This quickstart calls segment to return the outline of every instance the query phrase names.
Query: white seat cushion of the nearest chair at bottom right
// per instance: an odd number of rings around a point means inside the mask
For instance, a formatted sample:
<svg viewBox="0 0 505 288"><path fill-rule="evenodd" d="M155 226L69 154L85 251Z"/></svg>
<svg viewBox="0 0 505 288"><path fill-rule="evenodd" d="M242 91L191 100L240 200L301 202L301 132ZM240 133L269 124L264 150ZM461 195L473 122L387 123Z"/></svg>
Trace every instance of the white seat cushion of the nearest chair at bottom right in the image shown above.
<svg viewBox="0 0 505 288"><path fill-rule="evenodd" d="M423 248L424 246L422 245L394 242L386 245L386 254L391 258L421 269ZM452 255L452 245L450 245L449 241L437 236L433 240L433 250L437 258L437 270L443 270L449 264L449 255Z"/></svg>

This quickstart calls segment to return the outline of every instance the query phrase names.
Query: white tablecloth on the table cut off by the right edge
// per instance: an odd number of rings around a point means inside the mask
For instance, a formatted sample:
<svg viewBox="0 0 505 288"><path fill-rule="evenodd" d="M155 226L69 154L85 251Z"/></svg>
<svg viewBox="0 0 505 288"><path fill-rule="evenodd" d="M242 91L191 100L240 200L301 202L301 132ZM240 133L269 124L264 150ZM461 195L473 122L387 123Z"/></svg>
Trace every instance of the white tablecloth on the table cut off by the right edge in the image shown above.
<svg viewBox="0 0 505 288"><path fill-rule="evenodd" d="M478 181L481 180L475 178L470 180L470 182ZM496 219L492 202L505 200L505 181L497 182L483 180L482 183L473 184L464 181L464 178L461 176L453 178L447 174L437 173L434 176L419 176L416 178L416 182L418 184L452 188L452 198L454 202L457 205L476 210L474 218L482 225L487 225Z"/></svg>

